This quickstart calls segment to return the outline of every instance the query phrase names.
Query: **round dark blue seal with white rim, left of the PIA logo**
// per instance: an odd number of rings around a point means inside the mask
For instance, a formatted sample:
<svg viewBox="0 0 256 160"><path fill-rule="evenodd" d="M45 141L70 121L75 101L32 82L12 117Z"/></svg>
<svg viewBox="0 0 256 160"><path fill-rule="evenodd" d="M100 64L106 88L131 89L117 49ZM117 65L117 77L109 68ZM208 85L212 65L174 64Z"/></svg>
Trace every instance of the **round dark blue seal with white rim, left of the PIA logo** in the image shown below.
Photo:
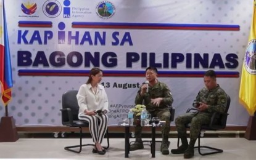
<svg viewBox="0 0 256 160"><path fill-rule="evenodd" d="M55 18L58 15L60 15L61 9L62 7L60 5L60 2L56 0L48 0L44 2L44 5L43 5L44 14L50 18Z"/></svg>

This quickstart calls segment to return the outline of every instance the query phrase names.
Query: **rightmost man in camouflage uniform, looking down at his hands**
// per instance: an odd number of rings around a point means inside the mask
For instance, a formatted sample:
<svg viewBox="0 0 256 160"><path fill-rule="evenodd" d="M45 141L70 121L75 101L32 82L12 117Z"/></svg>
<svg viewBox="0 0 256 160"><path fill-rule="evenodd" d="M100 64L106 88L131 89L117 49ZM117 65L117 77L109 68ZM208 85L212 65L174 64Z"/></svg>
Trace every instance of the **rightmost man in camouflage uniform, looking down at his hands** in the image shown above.
<svg viewBox="0 0 256 160"><path fill-rule="evenodd" d="M178 137L181 138L182 145L177 149L171 150L173 154L184 153L184 158L192 158L194 156L194 145L200 133L200 127L203 124L209 124L213 112L224 112L227 104L227 95L223 89L217 84L215 71L209 70L204 74L205 87L199 91L193 106L198 111L194 113L186 113L175 119ZM186 137L185 125L191 123L190 142Z"/></svg>

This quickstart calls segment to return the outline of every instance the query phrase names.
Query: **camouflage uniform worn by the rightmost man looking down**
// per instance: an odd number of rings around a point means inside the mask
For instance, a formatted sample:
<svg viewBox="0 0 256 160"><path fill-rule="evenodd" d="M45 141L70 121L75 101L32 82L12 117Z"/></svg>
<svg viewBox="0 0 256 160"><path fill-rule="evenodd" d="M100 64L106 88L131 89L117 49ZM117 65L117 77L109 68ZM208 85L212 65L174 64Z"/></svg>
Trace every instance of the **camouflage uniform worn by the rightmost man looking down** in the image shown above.
<svg viewBox="0 0 256 160"><path fill-rule="evenodd" d="M193 106L196 106L197 102L205 103L209 106L209 108L202 112L197 111L178 116L175 119L175 124L179 137L186 137L185 124L191 122L190 138L192 140L196 140L200 132L200 126L202 126L202 124L209 124L212 113L215 111L225 111L227 95L219 85L213 90L203 88L199 91L196 99L193 102Z"/></svg>

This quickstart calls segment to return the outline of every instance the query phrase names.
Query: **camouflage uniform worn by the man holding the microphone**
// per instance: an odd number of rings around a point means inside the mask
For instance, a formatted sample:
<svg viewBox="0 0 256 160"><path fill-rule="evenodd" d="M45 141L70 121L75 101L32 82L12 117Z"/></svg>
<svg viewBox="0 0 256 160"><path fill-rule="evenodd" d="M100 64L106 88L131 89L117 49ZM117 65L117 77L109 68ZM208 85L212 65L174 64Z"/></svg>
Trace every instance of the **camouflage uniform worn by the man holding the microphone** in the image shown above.
<svg viewBox="0 0 256 160"><path fill-rule="evenodd" d="M151 113L152 117L157 116L161 121L166 121L162 127L162 138L163 141L168 143L168 135L170 132L170 111L168 107L173 103L173 97L171 95L170 89L168 86L162 82L157 81L153 87L149 87L148 93L140 95L141 88L138 91L138 94L135 98L135 104L144 104L147 111ZM162 97L163 100L159 106L156 106L151 103L151 98ZM136 116L134 116L134 122L136 122ZM139 126L135 127L135 138L136 141L141 140L141 130Z"/></svg>

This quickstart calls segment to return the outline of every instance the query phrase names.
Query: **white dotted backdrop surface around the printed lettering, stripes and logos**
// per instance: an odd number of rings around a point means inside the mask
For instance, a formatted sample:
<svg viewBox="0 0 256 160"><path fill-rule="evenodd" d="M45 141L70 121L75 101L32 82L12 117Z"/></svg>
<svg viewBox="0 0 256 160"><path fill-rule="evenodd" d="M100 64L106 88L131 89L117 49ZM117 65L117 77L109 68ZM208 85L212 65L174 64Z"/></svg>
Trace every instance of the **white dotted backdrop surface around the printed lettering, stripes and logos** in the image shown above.
<svg viewBox="0 0 256 160"><path fill-rule="evenodd" d="M14 116L15 123L18 126L27 125L60 125L61 96L70 89L78 90L81 84L85 83L87 77L83 76L21 76L20 70L90 70L93 64L85 66L85 52L100 53L100 58L105 52L114 52L117 55L117 64L115 66L105 65L99 60L99 67L104 71L144 71L142 67L141 53L147 53L147 65L149 65L149 53L155 53L155 63L163 64L163 53L168 53L168 66L159 67L159 71L206 71L213 69L216 71L236 71L241 72L242 59L246 50L247 38L250 30L250 22L252 18L252 4L250 0L242 1L173 1L173 0L130 0L130 1L79 1L72 0L68 6L65 2L59 0L60 15L57 17L47 17L43 10L46 9L45 3L56 1L31 1L30 4L36 4L36 12L26 15L22 12L21 5L28 5L27 1L5 1L7 29L9 32L10 52L12 57L12 71L14 79L14 87L12 89L12 101L9 103L9 115ZM97 15L96 8L98 4L107 2L115 7L115 14L109 18L101 18ZM51 3L50 3L51 4ZM70 8L70 18L64 18L64 7ZM85 9L86 12L75 14L75 11ZM51 22L51 27L35 27L35 26L19 26L20 22ZM238 31L220 31L220 30L149 30L149 29L106 29L106 28L73 28L72 22L109 22L109 23L175 23L175 24L206 24L206 25L239 25ZM59 25L65 24L64 30L60 30ZM27 34L26 34L27 31ZM38 36L38 31L43 41L31 41ZM52 38L47 39L44 44L44 33L49 31ZM58 43L59 31L65 32L65 44ZM84 44L75 44L72 40L71 44L67 43L68 31L72 36L76 32L79 33L81 41L83 34L88 32L93 39L93 44L89 45L88 41ZM106 34L105 44L95 44L95 33L101 35ZM112 34L118 32L118 38L129 34L133 44L125 42L123 45L113 45ZM19 35L21 33L23 38ZM88 38L88 37L87 37ZM28 40L26 44L25 39ZM20 42L19 42L20 40ZM36 56L45 55L49 66L43 63L33 66L31 63L22 66L18 62L22 62L18 52L30 52L31 60L34 63ZM50 55L52 52L63 52L65 54L65 65L54 66L50 63ZM41 52L38 54L38 52ZM67 63L67 55L70 52L79 52L83 59L82 65L70 66ZM139 60L132 63L131 67L127 66L126 55L128 52L136 52ZM172 67L173 60L171 54L180 53L184 55L184 60L177 63L176 67ZM186 54L192 54L191 68L186 65ZM224 68L215 66L214 68L194 66L194 54L198 53L209 55L209 65L212 58L216 54L220 54L223 63L228 63L226 56L229 54L237 55L238 64L234 68ZM42 60L42 59L39 59ZM54 60L54 58L52 59ZM43 61L42 61L43 62ZM76 59L73 59L76 62ZM24 64L24 61L22 62ZM134 106L134 98L138 87L145 81L143 77L117 77L105 76L104 84L109 83L106 92L110 102L110 121L109 125L115 125L120 121L120 114L127 112L129 108ZM187 108L191 107L192 101L197 95L200 88L204 86L203 79L190 77L159 77L159 81L165 82L171 89L176 108L175 116L182 114ZM231 97L231 107L229 109L228 125L244 126L247 125L249 115L247 111L238 102L239 82L240 78L218 78L218 84ZM134 84L134 88L117 88L114 84ZM0 116L4 116L4 106L0 105Z"/></svg>

